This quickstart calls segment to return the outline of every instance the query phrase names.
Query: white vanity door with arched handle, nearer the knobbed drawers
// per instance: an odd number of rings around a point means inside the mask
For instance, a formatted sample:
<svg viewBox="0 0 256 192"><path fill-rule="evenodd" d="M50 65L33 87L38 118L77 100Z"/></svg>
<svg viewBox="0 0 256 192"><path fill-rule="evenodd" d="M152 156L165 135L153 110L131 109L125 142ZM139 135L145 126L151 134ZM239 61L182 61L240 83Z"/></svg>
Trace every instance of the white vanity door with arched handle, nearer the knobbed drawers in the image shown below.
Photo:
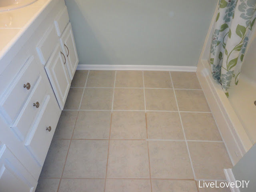
<svg viewBox="0 0 256 192"><path fill-rule="evenodd" d="M67 59L62 53L59 43L52 52L45 66L45 70L52 84L52 89L54 90L60 109L63 110L71 80L68 75Z"/></svg>

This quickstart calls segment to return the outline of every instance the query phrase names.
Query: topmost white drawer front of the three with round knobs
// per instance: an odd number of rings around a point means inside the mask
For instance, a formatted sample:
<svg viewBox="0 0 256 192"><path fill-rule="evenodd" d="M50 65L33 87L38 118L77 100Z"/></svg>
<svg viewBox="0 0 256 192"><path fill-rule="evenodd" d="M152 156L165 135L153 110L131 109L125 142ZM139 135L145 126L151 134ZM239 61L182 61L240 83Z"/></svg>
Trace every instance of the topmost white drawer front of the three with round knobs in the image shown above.
<svg viewBox="0 0 256 192"><path fill-rule="evenodd" d="M24 101L34 89L36 79L40 74L37 68L38 64L34 56L31 56L1 98L0 112L9 124L13 122ZM27 83L30 84L29 89L24 88Z"/></svg>

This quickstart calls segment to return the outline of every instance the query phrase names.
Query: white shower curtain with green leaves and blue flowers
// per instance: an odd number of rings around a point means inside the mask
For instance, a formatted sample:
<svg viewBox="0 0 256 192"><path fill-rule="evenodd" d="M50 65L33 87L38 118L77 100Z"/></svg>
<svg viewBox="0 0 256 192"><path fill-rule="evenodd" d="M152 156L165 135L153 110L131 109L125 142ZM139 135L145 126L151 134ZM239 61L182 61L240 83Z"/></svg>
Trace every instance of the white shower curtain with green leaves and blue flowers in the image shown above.
<svg viewBox="0 0 256 192"><path fill-rule="evenodd" d="M238 84L239 74L252 26L256 20L256 0L219 0L210 48L212 76L228 96L228 88Z"/></svg>

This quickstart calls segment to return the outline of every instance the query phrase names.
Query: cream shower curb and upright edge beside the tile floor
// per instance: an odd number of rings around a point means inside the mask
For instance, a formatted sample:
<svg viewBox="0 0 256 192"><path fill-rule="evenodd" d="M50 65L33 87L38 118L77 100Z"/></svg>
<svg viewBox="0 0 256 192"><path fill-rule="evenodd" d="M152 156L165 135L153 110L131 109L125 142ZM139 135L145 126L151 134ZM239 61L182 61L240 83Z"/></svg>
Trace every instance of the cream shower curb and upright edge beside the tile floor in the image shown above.
<svg viewBox="0 0 256 192"><path fill-rule="evenodd" d="M202 53L198 61L197 76L220 133L222 134L222 138L226 144L230 159L234 165L250 149L252 142L246 134L245 128L238 118L238 114L236 114L231 102L226 97L221 86L212 78L208 59L210 55L210 43L212 40L217 9L218 8L216 7L210 28L206 35ZM234 89L235 88L236 87L234 87ZM231 94L232 90L230 90L230 95ZM246 112L248 111L245 111L244 113Z"/></svg>

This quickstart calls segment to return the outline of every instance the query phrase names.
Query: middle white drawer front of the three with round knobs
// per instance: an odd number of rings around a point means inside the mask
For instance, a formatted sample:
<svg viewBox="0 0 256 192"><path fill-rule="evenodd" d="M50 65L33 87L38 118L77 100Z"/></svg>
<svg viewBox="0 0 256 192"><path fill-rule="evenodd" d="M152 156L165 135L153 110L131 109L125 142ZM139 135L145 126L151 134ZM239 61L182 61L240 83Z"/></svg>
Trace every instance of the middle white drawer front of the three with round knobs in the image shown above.
<svg viewBox="0 0 256 192"><path fill-rule="evenodd" d="M36 115L40 112L46 97L46 90L46 84L40 75L32 93L12 126L12 130L20 140L24 140L32 122L34 122ZM38 108L37 106L33 106L36 102L39 104Z"/></svg>

